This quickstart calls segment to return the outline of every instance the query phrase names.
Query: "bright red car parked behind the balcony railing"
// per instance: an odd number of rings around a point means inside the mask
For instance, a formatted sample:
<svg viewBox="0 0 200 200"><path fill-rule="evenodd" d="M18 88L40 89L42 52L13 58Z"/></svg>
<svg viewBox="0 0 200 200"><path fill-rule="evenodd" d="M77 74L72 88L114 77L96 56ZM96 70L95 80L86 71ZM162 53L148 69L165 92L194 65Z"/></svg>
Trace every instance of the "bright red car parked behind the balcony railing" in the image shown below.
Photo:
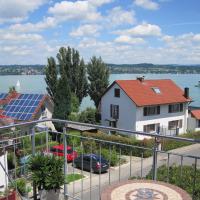
<svg viewBox="0 0 200 200"><path fill-rule="evenodd" d="M56 145L51 147L50 152L56 156L64 156L64 145ZM77 158L78 153L72 149L71 146L67 146L67 161L71 162Z"/></svg>

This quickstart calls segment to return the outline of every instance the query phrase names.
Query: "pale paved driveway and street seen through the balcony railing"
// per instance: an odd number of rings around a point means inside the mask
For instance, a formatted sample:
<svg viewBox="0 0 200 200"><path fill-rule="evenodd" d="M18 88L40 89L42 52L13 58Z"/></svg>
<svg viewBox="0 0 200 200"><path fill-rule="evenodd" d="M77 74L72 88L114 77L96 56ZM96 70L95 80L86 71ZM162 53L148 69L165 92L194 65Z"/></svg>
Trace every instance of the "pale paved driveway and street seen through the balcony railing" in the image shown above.
<svg viewBox="0 0 200 200"><path fill-rule="evenodd" d="M200 156L200 144L190 145L169 152ZM100 192L109 185L109 183L112 184L122 180L127 180L132 176L138 177L142 175L145 177L152 168L152 160L152 157L145 158L141 165L141 158L132 157L131 162L121 165L120 167L111 168L108 173L102 175L83 172L84 175L86 175L86 178L82 181L76 181L69 184L68 191L70 194L79 198L83 195L83 200L99 200ZM166 153L158 153L158 166L167 164L167 161L168 155ZM172 165L174 163L179 165L181 163L181 157L170 155L169 164ZM183 158L184 165L192 165L193 163L193 158ZM200 167L200 160L197 162L197 165ZM73 172L72 167L69 167L69 172ZM74 172L80 173L80 170L74 169ZM91 191L90 187L92 188ZM83 193L81 193L82 189Z"/></svg>

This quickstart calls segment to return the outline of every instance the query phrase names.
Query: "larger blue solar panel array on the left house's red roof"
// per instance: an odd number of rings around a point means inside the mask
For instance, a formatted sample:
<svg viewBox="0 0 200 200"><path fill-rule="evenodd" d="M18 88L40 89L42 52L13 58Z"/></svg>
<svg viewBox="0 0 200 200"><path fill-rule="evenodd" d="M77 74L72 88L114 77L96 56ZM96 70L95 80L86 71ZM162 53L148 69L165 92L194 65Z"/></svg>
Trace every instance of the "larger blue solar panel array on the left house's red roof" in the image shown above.
<svg viewBox="0 0 200 200"><path fill-rule="evenodd" d="M17 120L30 120L43 97L41 94L21 94L5 106L3 115Z"/></svg>

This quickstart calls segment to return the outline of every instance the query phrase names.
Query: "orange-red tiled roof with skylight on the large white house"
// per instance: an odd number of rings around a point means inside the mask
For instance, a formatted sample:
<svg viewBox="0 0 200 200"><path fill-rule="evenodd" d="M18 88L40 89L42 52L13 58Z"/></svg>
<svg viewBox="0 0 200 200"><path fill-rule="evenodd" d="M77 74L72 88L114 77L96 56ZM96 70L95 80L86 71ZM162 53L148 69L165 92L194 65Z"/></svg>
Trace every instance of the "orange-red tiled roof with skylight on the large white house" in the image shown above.
<svg viewBox="0 0 200 200"><path fill-rule="evenodd" d="M137 106L183 103L191 101L172 80L116 80L115 81ZM152 88L158 88L156 93Z"/></svg>

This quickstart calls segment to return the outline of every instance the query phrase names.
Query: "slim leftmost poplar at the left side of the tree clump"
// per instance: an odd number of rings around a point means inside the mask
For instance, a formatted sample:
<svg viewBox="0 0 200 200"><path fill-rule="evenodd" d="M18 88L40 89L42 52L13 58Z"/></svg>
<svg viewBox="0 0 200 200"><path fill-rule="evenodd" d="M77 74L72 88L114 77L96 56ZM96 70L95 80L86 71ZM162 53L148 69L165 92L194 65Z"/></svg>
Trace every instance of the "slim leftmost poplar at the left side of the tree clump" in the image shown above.
<svg viewBox="0 0 200 200"><path fill-rule="evenodd" d="M53 102L55 101L55 94L58 84L58 73L56 67L56 61L53 57L48 58L48 64L45 68L45 81L47 84L47 92L51 96Z"/></svg>

